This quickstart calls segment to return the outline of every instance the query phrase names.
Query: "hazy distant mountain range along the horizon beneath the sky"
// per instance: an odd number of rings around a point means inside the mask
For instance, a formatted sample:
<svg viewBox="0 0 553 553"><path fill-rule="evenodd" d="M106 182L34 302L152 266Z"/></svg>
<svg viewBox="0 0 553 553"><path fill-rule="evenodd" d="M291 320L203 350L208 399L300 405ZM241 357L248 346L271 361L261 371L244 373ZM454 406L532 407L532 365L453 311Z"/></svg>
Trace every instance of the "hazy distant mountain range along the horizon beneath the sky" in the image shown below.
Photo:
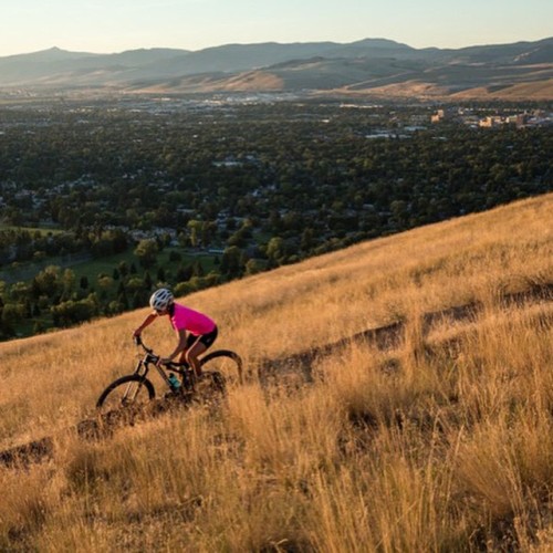
<svg viewBox="0 0 553 553"><path fill-rule="evenodd" d="M553 100L553 38L459 50L415 49L385 39L117 54L52 48L0 58L0 87Z"/></svg>

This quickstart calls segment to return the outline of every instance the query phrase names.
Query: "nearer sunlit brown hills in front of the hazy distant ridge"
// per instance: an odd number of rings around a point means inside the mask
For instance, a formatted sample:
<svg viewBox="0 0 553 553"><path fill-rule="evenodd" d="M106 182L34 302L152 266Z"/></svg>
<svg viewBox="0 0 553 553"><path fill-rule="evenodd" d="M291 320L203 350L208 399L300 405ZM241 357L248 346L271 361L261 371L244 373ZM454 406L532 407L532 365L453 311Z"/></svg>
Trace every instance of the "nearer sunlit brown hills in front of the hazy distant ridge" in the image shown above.
<svg viewBox="0 0 553 553"><path fill-rule="evenodd" d="M547 101L553 97L551 63L529 65L444 64L389 59L295 60L263 70L186 75L133 83L136 93L319 91L320 94L386 98Z"/></svg>

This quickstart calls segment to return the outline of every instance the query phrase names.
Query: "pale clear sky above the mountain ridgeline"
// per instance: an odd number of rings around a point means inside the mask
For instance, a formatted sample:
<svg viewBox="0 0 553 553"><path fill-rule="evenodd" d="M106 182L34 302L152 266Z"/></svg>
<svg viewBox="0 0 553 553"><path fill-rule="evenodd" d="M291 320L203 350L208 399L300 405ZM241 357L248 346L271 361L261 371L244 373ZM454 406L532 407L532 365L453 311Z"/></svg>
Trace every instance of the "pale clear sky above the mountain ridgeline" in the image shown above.
<svg viewBox="0 0 553 553"><path fill-rule="evenodd" d="M0 56L392 39L462 48L553 36L553 0L0 0Z"/></svg>

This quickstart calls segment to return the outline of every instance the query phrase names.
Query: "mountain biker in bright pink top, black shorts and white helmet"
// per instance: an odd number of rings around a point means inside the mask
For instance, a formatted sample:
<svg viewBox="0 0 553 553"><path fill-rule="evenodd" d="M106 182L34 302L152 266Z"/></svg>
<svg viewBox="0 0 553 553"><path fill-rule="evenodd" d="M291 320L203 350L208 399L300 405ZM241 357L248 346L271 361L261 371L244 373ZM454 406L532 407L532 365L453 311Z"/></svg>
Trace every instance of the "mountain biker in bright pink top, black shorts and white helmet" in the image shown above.
<svg viewBox="0 0 553 553"><path fill-rule="evenodd" d="M178 344L170 355L160 357L159 364L167 364L177 358L185 361L194 368L196 376L201 378L201 367L198 356L201 355L217 338L217 324L204 313L186 307L175 302L173 293L166 288L156 290L149 299L154 310L135 330L134 336L139 336L159 316L169 316L171 326L178 336ZM188 331L188 336L187 336Z"/></svg>

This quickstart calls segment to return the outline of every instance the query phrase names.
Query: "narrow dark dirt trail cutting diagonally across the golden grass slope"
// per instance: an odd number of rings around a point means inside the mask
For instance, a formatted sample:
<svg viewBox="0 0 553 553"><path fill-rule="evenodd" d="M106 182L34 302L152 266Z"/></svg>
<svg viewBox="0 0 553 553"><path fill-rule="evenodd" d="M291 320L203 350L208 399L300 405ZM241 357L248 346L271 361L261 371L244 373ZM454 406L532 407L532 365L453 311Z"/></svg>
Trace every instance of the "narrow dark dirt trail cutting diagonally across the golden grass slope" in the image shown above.
<svg viewBox="0 0 553 553"><path fill-rule="evenodd" d="M535 302L553 301L553 283L534 284L523 292L498 294L498 307L524 307ZM474 302L466 305L448 307L432 313L425 313L421 319L422 334L427 335L434 324L442 321L473 321L484 309L483 303ZM550 321L553 324L553 321ZM261 359L258 363L258 377L263 386L279 382L286 374L299 376L304 383L313 380L313 365L316 361L333 355L353 344L371 345L380 351L394 349L405 338L406 322L396 322L378 328L369 328L332 344L305 349L281 359ZM156 399L147 406L136 409L109 411L85 419L70 428L81 439L103 439L111 436L122 426L135 425L140 420L156 417L169 409L184 408L185 404L173 399ZM20 467L53 457L55 440L45 437L30 444L0 451L0 465Z"/></svg>

